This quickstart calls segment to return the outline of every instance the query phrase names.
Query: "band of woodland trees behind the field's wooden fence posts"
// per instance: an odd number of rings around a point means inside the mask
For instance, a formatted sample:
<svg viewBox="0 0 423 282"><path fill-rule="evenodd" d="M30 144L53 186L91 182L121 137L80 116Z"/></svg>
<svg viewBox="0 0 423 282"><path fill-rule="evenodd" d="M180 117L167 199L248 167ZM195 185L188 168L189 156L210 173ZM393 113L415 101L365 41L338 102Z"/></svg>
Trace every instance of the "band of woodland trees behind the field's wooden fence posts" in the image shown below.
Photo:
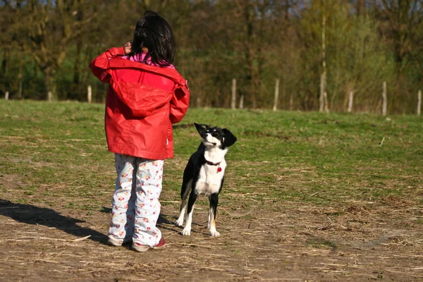
<svg viewBox="0 0 423 282"><path fill-rule="evenodd" d="M355 111L379 111L386 81L390 113L415 112L421 0L0 0L0 89L85 100L92 85L100 102L87 64L147 9L171 24L194 104L231 106L235 78L246 107L271 108L279 79L278 109L346 110L353 91Z"/></svg>

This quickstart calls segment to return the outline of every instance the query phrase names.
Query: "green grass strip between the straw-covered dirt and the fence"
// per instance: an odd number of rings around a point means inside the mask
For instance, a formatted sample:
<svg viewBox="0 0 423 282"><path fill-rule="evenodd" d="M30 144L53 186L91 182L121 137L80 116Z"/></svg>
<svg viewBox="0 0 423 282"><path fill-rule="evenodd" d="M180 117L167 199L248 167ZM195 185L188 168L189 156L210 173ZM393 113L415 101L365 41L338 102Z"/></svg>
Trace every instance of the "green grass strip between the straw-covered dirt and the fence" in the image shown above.
<svg viewBox="0 0 423 282"><path fill-rule="evenodd" d="M0 110L1 198L51 204L54 197L83 197L87 202L60 204L100 209L96 195L113 191L115 178L104 105L1 100ZM194 122L238 137L226 158L221 199L227 202L249 195L259 204L330 205L390 195L418 199L422 189L422 117L230 109L190 109L176 125L176 157L165 162L164 189L180 190L185 164L200 144Z"/></svg>

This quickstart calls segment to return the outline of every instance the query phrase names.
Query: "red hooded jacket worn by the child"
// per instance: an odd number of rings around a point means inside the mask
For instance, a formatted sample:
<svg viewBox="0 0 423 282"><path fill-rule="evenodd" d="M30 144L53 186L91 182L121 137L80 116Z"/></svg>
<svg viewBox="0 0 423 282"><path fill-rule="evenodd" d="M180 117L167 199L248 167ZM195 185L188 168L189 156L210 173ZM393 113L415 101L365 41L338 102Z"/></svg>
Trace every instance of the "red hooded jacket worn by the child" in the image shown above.
<svg viewBox="0 0 423 282"><path fill-rule="evenodd" d="M124 49L111 48L90 68L109 83L104 123L110 152L145 159L173 157L172 123L190 103L187 81L174 68L129 61Z"/></svg>

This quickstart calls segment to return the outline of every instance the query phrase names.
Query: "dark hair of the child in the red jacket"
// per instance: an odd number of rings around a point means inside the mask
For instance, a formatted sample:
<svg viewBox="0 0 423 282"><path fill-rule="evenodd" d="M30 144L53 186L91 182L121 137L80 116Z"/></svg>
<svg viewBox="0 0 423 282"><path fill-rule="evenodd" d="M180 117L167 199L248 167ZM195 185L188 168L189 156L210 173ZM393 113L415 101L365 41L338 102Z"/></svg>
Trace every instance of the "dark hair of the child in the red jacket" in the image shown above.
<svg viewBox="0 0 423 282"><path fill-rule="evenodd" d="M151 63L158 66L170 66L175 61L176 44L171 26L153 11L145 12L137 21L132 51L128 58L142 53L142 47L148 49L143 63L151 58Z"/></svg>

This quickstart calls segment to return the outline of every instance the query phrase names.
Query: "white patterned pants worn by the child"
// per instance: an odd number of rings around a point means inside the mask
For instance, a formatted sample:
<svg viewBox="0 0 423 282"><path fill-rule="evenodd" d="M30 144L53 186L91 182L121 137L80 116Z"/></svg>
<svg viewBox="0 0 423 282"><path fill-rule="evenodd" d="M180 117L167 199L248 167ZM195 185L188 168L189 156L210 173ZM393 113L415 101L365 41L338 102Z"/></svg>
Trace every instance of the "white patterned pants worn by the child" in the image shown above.
<svg viewBox="0 0 423 282"><path fill-rule="evenodd" d="M164 161L115 154L116 190L109 237L154 247L161 239L156 228Z"/></svg>

